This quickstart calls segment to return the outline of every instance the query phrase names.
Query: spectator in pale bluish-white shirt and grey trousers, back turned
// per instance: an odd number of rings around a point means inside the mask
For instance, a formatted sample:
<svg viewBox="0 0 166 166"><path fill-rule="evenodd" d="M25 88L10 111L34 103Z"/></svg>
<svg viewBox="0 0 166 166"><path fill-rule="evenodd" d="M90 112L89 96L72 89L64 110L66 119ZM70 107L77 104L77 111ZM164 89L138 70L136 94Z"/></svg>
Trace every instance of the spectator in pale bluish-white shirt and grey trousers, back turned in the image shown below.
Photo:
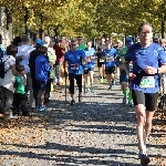
<svg viewBox="0 0 166 166"><path fill-rule="evenodd" d="M33 51L34 48L30 45L29 38L27 34L23 34L21 40L22 40L22 44L18 46L17 56L21 58L19 64L24 66L24 73L27 74L25 94L28 95L28 90L30 90L30 106L34 107L32 80L31 80L30 68L29 68L30 52Z"/></svg>

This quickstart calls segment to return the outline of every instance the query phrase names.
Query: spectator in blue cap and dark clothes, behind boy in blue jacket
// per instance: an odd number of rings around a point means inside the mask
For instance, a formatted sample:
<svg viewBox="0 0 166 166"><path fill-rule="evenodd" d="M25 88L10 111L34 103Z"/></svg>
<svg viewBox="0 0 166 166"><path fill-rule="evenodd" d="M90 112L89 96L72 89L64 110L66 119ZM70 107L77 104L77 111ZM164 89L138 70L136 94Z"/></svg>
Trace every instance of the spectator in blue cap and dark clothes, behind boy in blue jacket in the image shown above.
<svg viewBox="0 0 166 166"><path fill-rule="evenodd" d="M38 82L35 80L35 59L40 55L40 48L44 45L41 39L35 40L35 50L30 52L29 68L32 79L33 97L35 100L35 107L38 106Z"/></svg>

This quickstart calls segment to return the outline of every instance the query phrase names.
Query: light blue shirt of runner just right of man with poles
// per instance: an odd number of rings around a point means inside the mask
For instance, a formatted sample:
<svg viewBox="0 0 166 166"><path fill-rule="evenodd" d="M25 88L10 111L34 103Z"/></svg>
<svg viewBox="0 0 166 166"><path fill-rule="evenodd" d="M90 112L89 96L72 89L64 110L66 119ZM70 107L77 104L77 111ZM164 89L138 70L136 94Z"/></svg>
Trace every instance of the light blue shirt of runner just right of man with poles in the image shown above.
<svg viewBox="0 0 166 166"><path fill-rule="evenodd" d="M85 52L85 58L86 56L90 56L91 59L91 62L87 62L85 65L84 65L84 70L87 70L89 68L94 68L94 56L95 56L95 50L94 48L91 48L91 50L89 50L87 48L84 50Z"/></svg>

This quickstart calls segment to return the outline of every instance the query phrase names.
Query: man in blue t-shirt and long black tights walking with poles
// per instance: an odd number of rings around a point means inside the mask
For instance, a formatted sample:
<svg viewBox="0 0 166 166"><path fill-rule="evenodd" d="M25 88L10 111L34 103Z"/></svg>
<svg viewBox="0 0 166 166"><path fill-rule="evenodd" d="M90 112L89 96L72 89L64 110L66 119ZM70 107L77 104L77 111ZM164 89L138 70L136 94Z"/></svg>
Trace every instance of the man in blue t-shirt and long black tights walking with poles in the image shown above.
<svg viewBox="0 0 166 166"><path fill-rule="evenodd" d="M71 50L65 53L64 56L64 73L65 61L69 63L69 80L70 80L70 93L71 93L71 105L75 103L74 98L74 80L76 80L79 86L79 102L82 101L82 72L83 65L85 64L85 53L82 50L76 49L76 41L71 41Z"/></svg>

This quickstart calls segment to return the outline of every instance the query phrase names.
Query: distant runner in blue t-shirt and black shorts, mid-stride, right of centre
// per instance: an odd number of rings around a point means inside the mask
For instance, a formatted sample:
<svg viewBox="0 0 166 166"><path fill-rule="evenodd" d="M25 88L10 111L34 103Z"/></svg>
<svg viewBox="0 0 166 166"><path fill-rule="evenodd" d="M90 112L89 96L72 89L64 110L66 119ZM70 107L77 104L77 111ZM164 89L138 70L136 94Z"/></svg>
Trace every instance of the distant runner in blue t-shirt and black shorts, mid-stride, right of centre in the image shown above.
<svg viewBox="0 0 166 166"><path fill-rule="evenodd" d="M105 74L106 80L108 82L108 91L112 90L112 85L115 84L115 58L117 55L117 51L111 46L111 42L108 40L105 41L106 49L102 52L102 59L105 62Z"/></svg>

